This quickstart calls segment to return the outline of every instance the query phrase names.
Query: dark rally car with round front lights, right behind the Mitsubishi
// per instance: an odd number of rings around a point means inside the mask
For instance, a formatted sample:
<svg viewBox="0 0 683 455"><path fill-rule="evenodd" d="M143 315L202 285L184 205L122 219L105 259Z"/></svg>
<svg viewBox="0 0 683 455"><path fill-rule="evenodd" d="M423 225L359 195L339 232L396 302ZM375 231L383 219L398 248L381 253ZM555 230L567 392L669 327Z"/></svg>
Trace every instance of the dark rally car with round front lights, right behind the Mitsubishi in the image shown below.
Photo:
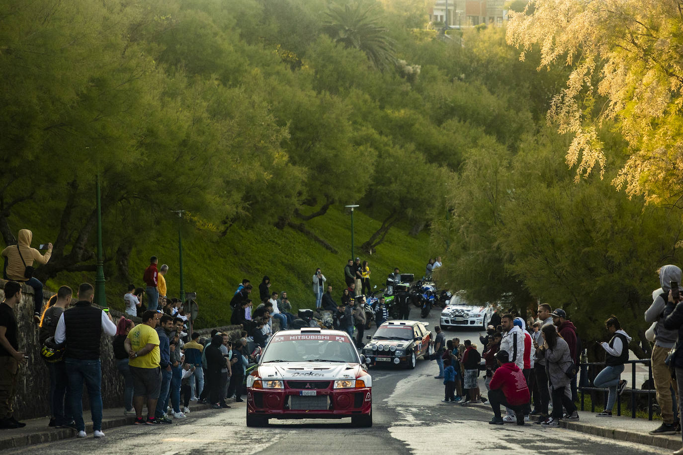
<svg viewBox="0 0 683 455"><path fill-rule="evenodd" d="M419 321L386 321L363 347L368 365L402 365L415 368L418 357L428 359L432 332L429 323Z"/></svg>

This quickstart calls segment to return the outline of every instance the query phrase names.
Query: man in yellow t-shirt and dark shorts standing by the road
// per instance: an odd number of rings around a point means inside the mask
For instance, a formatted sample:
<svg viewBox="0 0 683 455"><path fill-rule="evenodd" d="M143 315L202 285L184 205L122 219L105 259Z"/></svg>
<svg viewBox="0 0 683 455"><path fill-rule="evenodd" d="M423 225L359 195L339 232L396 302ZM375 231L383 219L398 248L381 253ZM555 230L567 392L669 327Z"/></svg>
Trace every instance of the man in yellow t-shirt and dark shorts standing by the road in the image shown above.
<svg viewBox="0 0 683 455"><path fill-rule="evenodd" d="M128 351L128 368L133 376L135 392L135 424L156 424L154 410L161 393L161 353L156 327L156 311L147 310L142 314L142 323L128 333L124 342ZM147 397L147 421L142 418L142 405Z"/></svg>

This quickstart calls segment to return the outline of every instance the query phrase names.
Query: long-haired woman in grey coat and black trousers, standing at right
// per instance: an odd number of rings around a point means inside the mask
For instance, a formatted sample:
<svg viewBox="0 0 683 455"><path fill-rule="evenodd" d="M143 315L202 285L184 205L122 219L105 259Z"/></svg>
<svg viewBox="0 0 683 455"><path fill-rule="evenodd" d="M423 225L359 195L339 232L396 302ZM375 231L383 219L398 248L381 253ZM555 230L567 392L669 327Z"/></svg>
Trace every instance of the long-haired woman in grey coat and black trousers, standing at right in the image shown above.
<svg viewBox="0 0 683 455"><path fill-rule="evenodd" d="M566 371L571 368L574 361L569 351L569 344L557 333L553 324L546 324L541 329L543 345L539 348L546 358L546 374L553 395L553 414L542 422L543 426L559 426L562 419L562 407L567 409L568 419L579 420L576 405L572 401L571 394L567 396L566 388L569 387L570 377Z"/></svg>

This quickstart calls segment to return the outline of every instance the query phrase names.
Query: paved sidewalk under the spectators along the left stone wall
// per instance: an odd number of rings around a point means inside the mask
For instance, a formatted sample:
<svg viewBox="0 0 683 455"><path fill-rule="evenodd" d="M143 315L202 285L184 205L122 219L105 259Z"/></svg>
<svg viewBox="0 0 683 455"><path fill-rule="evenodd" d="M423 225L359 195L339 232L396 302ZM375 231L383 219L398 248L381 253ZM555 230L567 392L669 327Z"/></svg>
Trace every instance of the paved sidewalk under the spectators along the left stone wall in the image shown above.
<svg viewBox="0 0 683 455"><path fill-rule="evenodd" d="M199 405L196 401L193 401L190 403L190 409L194 413L195 411L210 409L210 406ZM147 415L146 409L143 409L143 415ZM87 432L89 437L92 437L92 422L89 422L89 410L83 411L83 419L85 420L85 432ZM124 408L122 407L104 409L104 412L102 413L102 430L106 432L107 428L132 425L134 420L135 414L124 415ZM27 445L76 437L76 430L72 430L71 428L54 428L48 426L50 417L22 420L22 422L26 424L24 428L0 430L0 450L13 447L26 447Z"/></svg>

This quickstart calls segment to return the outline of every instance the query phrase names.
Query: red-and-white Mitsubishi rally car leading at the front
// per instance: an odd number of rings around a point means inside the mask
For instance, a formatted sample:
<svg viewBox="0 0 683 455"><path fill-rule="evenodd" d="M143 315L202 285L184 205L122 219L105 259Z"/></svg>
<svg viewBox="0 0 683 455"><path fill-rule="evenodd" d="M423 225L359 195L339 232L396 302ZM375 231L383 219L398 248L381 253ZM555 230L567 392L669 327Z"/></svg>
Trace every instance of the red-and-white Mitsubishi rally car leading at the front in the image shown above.
<svg viewBox="0 0 683 455"><path fill-rule="evenodd" d="M341 419L372 426L372 378L340 330L277 332L247 377L247 426L275 419Z"/></svg>

